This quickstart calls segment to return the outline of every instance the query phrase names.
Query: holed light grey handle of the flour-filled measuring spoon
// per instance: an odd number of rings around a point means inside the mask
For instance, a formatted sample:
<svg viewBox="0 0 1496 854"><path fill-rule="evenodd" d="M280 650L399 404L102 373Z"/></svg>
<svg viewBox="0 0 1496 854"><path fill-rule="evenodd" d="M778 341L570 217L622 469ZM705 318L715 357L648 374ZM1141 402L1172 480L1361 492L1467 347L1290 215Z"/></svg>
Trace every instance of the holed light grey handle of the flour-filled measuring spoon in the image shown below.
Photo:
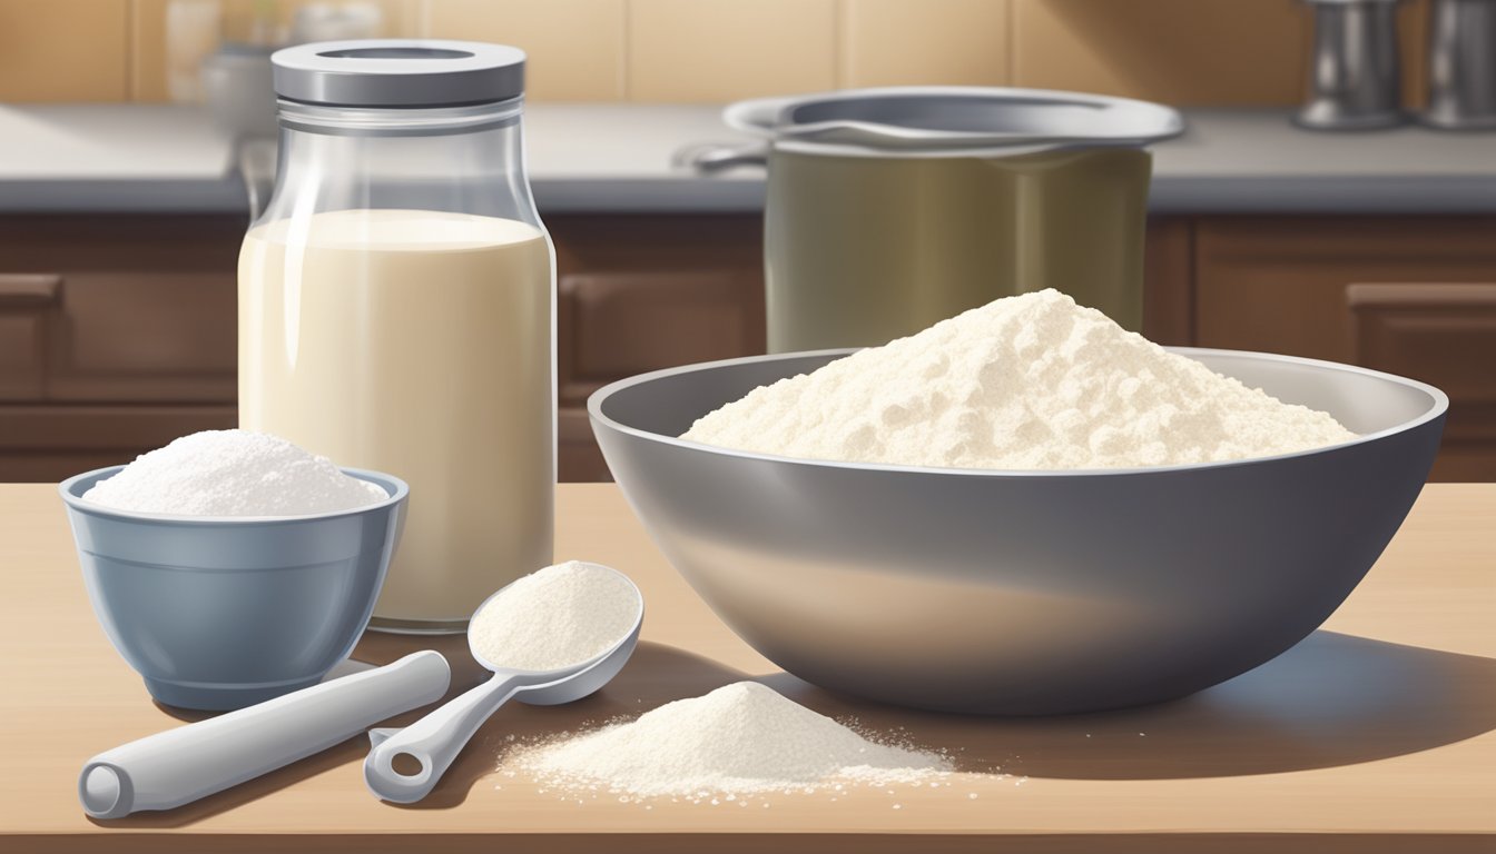
<svg viewBox="0 0 1496 854"><path fill-rule="evenodd" d="M402 730L370 730L373 749L364 760L364 782L377 797L393 803L426 797L473 733L522 686L524 679L497 675ZM419 770L395 770L401 755L419 763Z"/></svg>

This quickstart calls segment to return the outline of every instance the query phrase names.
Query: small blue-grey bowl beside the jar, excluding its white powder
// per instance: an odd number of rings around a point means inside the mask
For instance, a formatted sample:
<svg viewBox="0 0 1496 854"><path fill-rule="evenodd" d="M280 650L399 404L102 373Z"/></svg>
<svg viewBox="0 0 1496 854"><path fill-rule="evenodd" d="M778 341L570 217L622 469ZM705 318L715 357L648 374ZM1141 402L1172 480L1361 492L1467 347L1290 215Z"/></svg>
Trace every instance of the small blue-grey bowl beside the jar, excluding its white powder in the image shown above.
<svg viewBox="0 0 1496 854"><path fill-rule="evenodd" d="M82 500L121 468L58 492L94 613L156 700L239 709L316 685L353 652L399 541L404 480L344 468L389 498L314 516L171 516Z"/></svg>

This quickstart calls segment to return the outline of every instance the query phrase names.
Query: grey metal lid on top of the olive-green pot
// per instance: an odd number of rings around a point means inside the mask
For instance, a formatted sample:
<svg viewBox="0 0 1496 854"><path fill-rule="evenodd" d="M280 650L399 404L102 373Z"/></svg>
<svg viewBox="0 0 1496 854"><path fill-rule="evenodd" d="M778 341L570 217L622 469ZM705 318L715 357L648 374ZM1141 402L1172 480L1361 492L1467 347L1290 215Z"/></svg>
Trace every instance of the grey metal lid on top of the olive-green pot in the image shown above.
<svg viewBox="0 0 1496 854"><path fill-rule="evenodd" d="M984 87L890 87L744 100L723 111L723 120L784 150L914 157L1141 148L1185 130L1177 111L1143 100Z"/></svg>

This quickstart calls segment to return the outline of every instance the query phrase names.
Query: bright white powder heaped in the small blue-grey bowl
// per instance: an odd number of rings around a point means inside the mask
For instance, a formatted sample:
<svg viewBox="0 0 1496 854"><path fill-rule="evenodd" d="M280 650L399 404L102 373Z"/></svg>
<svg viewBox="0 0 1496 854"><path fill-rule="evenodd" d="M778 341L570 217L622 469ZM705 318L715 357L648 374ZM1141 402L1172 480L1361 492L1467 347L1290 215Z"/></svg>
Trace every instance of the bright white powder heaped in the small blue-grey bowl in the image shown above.
<svg viewBox="0 0 1496 854"><path fill-rule="evenodd" d="M142 453L82 498L138 513L307 516L367 507L389 494L280 437L223 429Z"/></svg>

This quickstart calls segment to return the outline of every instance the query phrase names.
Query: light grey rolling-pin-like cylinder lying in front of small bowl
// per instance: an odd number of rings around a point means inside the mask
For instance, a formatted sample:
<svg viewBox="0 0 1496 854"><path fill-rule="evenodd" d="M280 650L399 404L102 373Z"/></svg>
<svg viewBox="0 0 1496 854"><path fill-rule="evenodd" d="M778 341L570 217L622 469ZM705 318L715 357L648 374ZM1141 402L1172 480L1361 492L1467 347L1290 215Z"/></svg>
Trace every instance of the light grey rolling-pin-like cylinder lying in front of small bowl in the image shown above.
<svg viewBox="0 0 1496 854"><path fill-rule="evenodd" d="M105 751L84 764L78 797L94 818L191 803L434 703L450 682L452 669L440 652L414 652Z"/></svg>

